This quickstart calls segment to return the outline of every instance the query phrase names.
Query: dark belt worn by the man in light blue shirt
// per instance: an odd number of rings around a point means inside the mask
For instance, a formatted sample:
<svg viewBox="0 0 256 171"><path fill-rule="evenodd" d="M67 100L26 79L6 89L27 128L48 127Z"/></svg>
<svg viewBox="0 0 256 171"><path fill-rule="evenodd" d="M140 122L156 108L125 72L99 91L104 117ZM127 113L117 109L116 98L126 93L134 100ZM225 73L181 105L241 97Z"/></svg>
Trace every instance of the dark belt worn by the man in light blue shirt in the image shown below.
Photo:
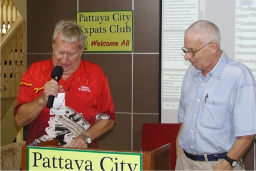
<svg viewBox="0 0 256 171"><path fill-rule="evenodd" d="M205 155L192 155L184 150L185 155L195 161L205 161ZM208 161L218 161L218 159L223 159L227 152L223 153L217 153L217 154L211 154L207 155Z"/></svg>

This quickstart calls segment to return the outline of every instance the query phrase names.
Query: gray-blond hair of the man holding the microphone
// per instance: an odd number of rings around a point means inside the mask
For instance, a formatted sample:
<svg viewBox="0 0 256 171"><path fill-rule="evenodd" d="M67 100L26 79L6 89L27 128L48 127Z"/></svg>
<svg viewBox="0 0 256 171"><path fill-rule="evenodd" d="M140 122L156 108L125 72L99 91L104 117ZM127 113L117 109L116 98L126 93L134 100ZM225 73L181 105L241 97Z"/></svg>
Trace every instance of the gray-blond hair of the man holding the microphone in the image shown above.
<svg viewBox="0 0 256 171"><path fill-rule="evenodd" d="M55 44L56 37L62 33L61 41L63 42L77 42L79 40L79 48L83 49L85 46L85 35L82 29L75 21L61 20L55 25L55 30L52 35L52 45Z"/></svg>

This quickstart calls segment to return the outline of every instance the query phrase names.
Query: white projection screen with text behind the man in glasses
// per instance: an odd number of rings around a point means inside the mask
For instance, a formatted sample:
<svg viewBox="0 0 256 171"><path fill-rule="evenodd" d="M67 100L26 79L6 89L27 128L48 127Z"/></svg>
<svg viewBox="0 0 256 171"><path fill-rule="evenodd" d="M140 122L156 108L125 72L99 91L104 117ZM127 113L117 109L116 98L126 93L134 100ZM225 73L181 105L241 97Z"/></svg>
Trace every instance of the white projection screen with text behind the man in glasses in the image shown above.
<svg viewBox="0 0 256 171"><path fill-rule="evenodd" d="M221 32L221 49L248 66L256 80L256 0L163 0L160 33L160 121L177 123L180 87L189 62L184 60L184 31L196 20L209 20Z"/></svg>

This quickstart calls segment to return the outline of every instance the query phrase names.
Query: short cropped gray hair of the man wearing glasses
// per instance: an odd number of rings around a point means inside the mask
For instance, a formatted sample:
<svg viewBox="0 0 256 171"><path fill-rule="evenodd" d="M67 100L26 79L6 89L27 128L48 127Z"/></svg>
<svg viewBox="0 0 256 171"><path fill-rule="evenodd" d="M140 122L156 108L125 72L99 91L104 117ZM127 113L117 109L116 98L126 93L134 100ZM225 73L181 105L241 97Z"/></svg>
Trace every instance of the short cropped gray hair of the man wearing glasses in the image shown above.
<svg viewBox="0 0 256 171"><path fill-rule="evenodd" d="M207 20L198 20L186 29L185 35L188 33L199 36L199 39L203 41L204 44L207 44L210 41L215 41L218 44L218 48L220 48L220 30L217 25L212 22Z"/></svg>

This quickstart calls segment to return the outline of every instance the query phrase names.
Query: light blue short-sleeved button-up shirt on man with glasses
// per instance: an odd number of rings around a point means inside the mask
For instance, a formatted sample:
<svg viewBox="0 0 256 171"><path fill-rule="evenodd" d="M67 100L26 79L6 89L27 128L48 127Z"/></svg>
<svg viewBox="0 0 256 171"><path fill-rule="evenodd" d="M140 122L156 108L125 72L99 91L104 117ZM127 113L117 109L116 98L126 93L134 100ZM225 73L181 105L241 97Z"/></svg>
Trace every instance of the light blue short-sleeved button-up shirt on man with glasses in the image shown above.
<svg viewBox="0 0 256 171"><path fill-rule="evenodd" d="M256 85L248 67L222 52L206 78L190 65L181 86L180 147L194 154L228 152L237 136L256 134Z"/></svg>

